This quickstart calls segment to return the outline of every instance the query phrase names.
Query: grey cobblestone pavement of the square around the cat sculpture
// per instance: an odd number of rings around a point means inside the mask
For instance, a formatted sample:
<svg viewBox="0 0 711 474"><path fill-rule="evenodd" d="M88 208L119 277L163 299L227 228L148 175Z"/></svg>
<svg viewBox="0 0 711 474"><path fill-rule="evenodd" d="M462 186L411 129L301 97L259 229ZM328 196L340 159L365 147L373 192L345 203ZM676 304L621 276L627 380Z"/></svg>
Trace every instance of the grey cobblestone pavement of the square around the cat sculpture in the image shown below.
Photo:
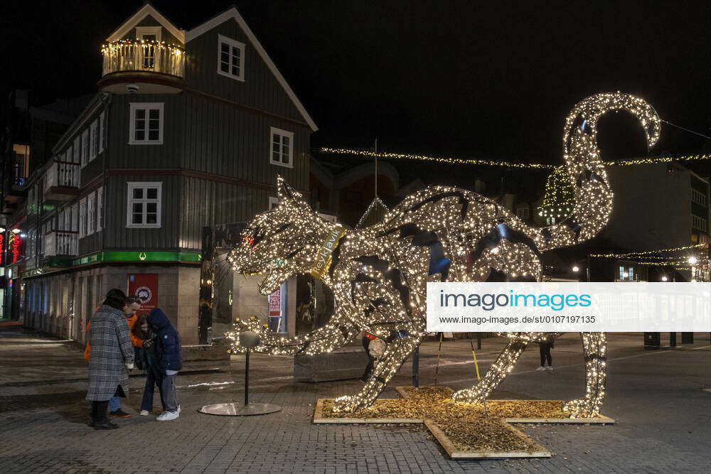
<svg viewBox="0 0 711 474"><path fill-rule="evenodd" d="M641 334L611 334L604 414L616 426L523 426L556 455L542 460L449 460L422 427L311 424L316 399L356 392L356 381L294 383L289 357L252 356L252 400L279 404L265 416L199 414L203 404L242 399L243 358L193 362L178 377L180 419L138 416L144 377L117 421L120 429L86 426L86 367L73 343L18 328L0 328L0 473L464 473L711 472L711 348L697 334L688 350L645 351ZM700 342L703 339L705 342ZM483 370L503 346L483 340ZM553 350L555 372L535 372L526 351L494 398L579 397L584 388L577 334ZM437 343L421 349L421 384L434 382ZM211 370L219 369L219 370ZM410 384L406 362L392 387ZM469 341L444 342L439 383L472 382Z"/></svg>

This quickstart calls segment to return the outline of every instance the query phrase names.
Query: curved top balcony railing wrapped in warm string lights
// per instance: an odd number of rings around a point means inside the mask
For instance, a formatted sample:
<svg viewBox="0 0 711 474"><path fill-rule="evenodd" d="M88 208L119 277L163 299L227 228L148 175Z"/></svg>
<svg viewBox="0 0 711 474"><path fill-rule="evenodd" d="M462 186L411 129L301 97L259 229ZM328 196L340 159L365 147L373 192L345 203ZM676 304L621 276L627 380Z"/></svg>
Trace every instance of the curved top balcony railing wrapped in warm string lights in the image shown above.
<svg viewBox="0 0 711 474"><path fill-rule="evenodd" d="M159 41L117 41L101 49L104 55L102 76L112 72L161 72L183 77L185 52L183 48Z"/></svg>

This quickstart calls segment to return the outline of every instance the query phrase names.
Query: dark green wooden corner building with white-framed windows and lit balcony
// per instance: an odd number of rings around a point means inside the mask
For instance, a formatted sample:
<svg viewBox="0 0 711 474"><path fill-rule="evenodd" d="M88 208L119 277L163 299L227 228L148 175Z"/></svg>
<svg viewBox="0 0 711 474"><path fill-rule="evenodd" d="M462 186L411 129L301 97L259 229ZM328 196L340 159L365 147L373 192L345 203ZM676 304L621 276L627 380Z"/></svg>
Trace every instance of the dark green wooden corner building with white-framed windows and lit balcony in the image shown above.
<svg viewBox="0 0 711 474"><path fill-rule="evenodd" d="M8 217L5 238L26 236L12 311L83 340L117 287L195 343L203 227L267 210L277 174L308 190L316 125L235 8L184 31L146 4L102 54L98 92Z"/></svg>

